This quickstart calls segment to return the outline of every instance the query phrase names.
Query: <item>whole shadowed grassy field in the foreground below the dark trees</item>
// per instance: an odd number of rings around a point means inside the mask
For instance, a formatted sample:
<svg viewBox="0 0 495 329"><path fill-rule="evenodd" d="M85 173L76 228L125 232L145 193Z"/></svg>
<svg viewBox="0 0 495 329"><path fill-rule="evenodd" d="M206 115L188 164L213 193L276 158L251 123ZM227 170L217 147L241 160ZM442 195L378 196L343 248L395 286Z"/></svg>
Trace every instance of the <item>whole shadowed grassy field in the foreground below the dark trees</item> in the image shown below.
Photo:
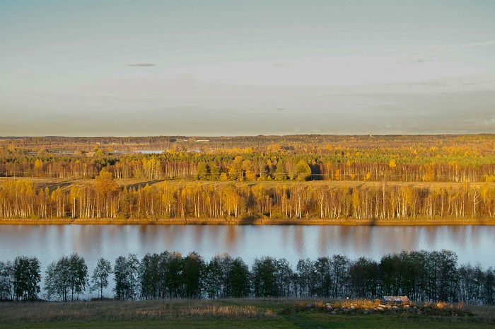
<svg viewBox="0 0 495 329"><path fill-rule="evenodd" d="M318 301L91 301L0 304L0 328L495 328L495 308L332 314Z"/></svg>

